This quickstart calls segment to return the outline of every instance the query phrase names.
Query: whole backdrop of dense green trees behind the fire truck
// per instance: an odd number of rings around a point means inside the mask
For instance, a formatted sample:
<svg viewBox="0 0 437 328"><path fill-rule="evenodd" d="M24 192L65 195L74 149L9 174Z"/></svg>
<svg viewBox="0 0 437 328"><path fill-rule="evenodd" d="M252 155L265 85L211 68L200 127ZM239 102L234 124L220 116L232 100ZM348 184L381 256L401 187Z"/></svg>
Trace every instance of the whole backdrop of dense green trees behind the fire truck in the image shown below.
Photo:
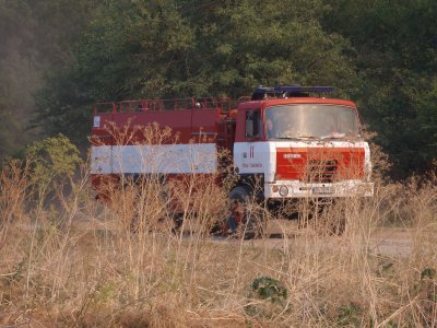
<svg viewBox="0 0 437 328"><path fill-rule="evenodd" d="M85 145L97 101L238 97L279 83L334 85L356 101L395 177L437 155L433 0L0 0L0 9L2 155L32 114L46 134Z"/></svg>

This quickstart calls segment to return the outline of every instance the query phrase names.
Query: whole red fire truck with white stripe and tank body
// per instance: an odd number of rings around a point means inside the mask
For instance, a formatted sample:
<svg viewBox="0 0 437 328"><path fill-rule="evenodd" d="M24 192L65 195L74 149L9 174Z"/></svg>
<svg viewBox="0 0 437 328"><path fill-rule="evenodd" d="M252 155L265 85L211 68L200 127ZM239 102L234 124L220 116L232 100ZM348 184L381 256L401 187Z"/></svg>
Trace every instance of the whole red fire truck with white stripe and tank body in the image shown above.
<svg viewBox="0 0 437 328"><path fill-rule="evenodd" d="M331 91L328 86L283 85L258 87L251 98L239 102L189 98L96 104L91 137L93 186L98 190L108 176L214 174L221 164L217 154L226 149L232 156L228 165L238 175L229 198L238 203L250 197L271 206L298 199L329 202L371 197L370 152L356 105L320 97ZM151 124L170 128L177 142L153 144L138 138L120 142L110 132L114 127ZM231 230L249 221L241 211L232 212Z"/></svg>

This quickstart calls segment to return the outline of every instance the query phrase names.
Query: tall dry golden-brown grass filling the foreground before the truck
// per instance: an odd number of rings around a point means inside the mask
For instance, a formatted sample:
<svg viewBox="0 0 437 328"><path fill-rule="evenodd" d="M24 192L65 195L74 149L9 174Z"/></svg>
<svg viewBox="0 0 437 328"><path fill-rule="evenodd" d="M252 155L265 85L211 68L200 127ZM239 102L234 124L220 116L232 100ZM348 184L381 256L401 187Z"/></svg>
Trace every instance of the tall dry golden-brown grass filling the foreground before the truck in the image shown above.
<svg viewBox="0 0 437 328"><path fill-rule="evenodd" d="M437 326L435 179L339 202L319 220L345 215L342 236L308 227L281 247L209 236L226 197L208 178L163 197L151 177L110 204L93 200L86 174L45 201L22 163L0 180L0 326ZM172 232L175 197L188 236ZM387 224L411 231L411 251L371 249Z"/></svg>

